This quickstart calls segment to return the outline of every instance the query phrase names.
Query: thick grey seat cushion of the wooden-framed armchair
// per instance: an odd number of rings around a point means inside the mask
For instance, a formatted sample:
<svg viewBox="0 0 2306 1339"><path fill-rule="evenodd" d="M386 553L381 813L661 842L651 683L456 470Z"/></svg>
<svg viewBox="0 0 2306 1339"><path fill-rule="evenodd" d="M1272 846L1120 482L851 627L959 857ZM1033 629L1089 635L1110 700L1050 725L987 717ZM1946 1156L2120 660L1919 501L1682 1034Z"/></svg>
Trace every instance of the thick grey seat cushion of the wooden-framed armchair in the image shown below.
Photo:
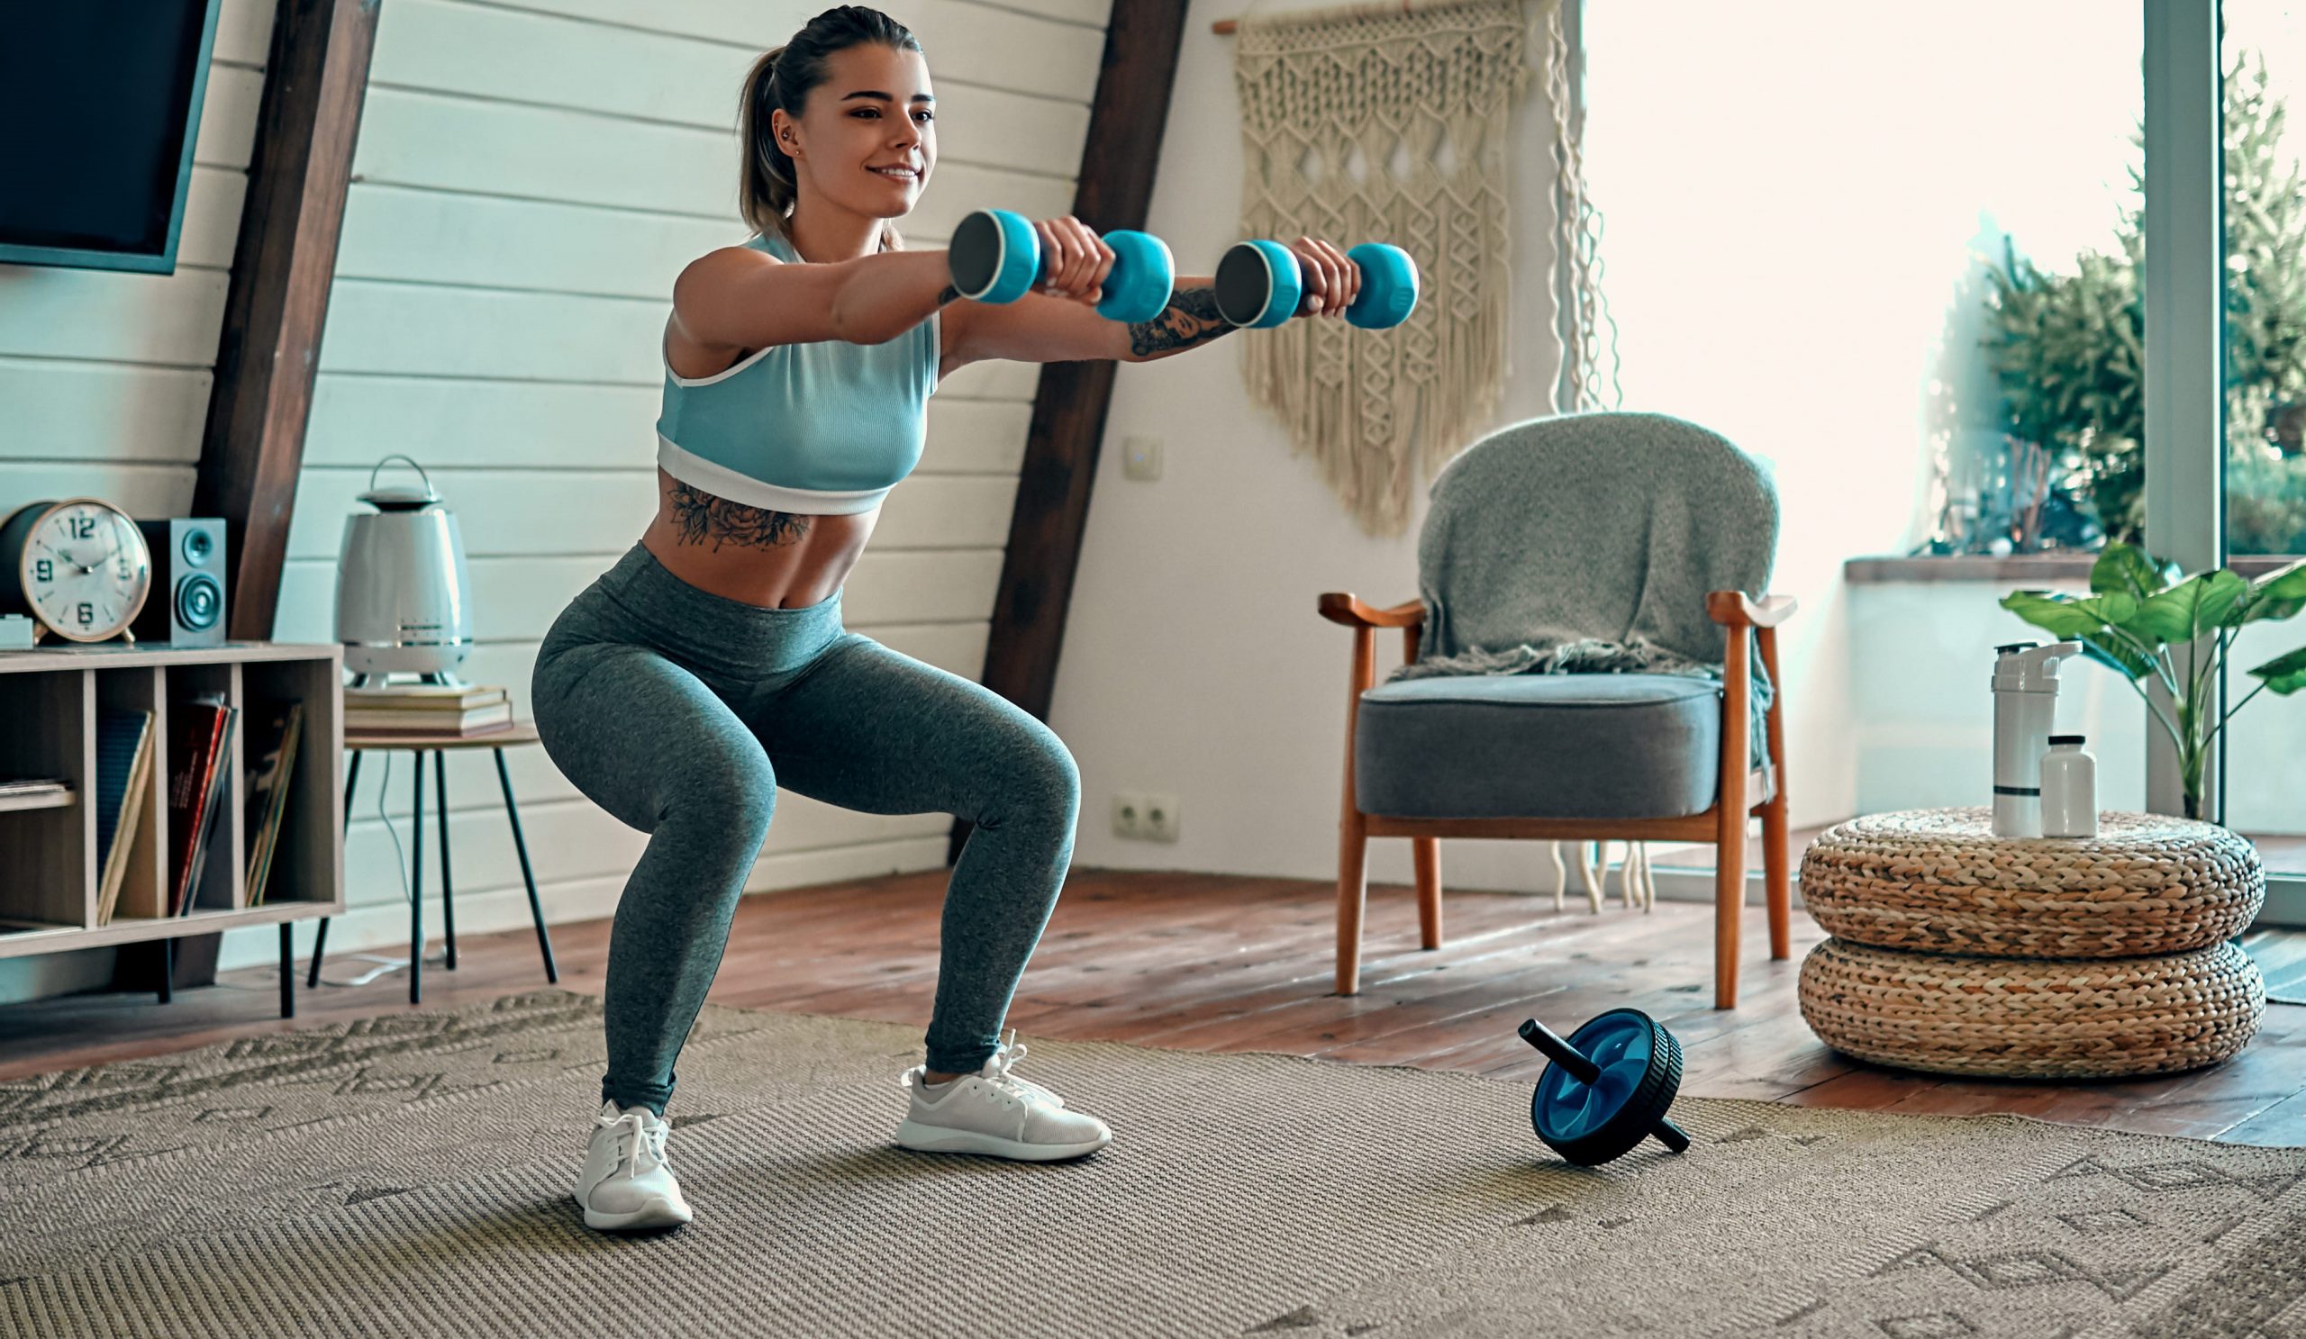
<svg viewBox="0 0 2306 1339"><path fill-rule="evenodd" d="M1681 675L1391 682L1361 694L1354 802L1393 818L1704 814L1720 701L1720 684Z"/></svg>

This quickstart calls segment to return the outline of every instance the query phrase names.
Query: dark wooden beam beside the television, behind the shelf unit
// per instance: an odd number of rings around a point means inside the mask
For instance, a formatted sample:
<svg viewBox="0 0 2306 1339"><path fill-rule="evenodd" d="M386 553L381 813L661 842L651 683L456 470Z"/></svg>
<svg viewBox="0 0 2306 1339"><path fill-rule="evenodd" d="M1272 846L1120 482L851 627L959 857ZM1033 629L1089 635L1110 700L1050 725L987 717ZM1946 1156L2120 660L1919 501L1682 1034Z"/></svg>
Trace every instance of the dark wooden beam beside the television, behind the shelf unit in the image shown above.
<svg viewBox="0 0 2306 1339"><path fill-rule="evenodd" d="M378 0L279 0L191 509L226 521L226 618L272 636Z"/></svg>

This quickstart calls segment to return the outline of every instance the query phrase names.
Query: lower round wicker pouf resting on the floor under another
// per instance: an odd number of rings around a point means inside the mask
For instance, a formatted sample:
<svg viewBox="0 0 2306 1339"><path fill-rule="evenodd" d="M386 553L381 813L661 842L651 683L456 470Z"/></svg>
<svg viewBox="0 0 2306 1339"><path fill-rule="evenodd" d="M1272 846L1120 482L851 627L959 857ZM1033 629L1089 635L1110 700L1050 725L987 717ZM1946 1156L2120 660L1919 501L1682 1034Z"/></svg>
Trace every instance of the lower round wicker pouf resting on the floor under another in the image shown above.
<svg viewBox="0 0 2306 1339"><path fill-rule="evenodd" d="M2258 963L2221 943L2147 959L1985 959L1824 940L1801 963L1817 1039L1932 1074L2117 1079L2216 1065L2258 1035Z"/></svg>

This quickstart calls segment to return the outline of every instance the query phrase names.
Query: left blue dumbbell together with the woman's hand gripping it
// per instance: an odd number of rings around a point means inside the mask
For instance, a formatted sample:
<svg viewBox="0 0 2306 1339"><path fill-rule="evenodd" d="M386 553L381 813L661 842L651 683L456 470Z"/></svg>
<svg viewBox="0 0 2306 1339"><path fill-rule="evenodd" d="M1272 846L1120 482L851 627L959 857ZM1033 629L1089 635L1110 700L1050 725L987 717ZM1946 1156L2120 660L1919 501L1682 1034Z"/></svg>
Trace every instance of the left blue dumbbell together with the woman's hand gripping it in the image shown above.
<svg viewBox="0 0 2306 1339"><path fill-rule="evenodd" d="M1153 320L1169 307L1176 260L1151 233L1098 237L1075 217L1028 221L1010 210L962 219L948 247L952 288L971 302L1017 302L1026 293L1093 300L1107 320Z"/></svg>

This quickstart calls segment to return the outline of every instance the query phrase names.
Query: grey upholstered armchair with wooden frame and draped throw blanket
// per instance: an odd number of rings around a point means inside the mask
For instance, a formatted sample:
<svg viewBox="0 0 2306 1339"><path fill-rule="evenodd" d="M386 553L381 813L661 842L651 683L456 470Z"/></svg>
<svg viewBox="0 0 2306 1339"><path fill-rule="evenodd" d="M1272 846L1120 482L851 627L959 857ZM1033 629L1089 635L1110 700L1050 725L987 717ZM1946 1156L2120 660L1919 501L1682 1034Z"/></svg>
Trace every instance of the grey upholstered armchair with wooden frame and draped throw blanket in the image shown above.
<svg viewBox="0 0 2306 1339"><path fill-rule="evenodd" d="M1759 816L1769 952L1792 954L1778 625L1794 602L1757 595L1776 542L1766 475L1667 415L1513 424L1441 470L1420 599L1319 599L1354 629L1337 993L1361 989L1370 837L1411 841L1427 950L1441 947L1441 837L1711 841L1713 1005L1732 1009ZM1381 627L1402 629L1407 666L1384 687ZM1718 678L1693 678L1702 666Z"/></svg>

